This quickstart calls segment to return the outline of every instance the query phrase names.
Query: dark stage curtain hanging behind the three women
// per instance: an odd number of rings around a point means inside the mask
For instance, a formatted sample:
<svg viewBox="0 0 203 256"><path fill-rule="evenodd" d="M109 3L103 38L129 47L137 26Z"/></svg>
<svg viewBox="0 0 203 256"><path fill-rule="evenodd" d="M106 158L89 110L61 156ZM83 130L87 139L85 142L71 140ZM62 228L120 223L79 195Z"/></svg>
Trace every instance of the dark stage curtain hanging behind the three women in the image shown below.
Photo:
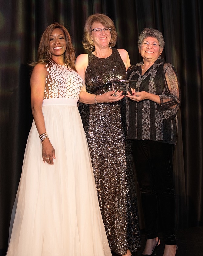
<svg viewBox="0 0 203 256"><path fill-rule="evenodd" d="M178 71L181 109L174 158L177 228L203 225L202 80L203 4L201 0L7 0L0 2L0 249L8 244L12 206L32 124L30 68L42 32L63 23L72 35L76 56L84 53L85 19L105 13L118 31L116 48L128 51L131 64L141 60L137 40L146 27L165 39L162 57ZM36 138L39 139L39 138ZM139 200L140 228L144 228ZM2 254L3 255L3 254Z"/></svg>

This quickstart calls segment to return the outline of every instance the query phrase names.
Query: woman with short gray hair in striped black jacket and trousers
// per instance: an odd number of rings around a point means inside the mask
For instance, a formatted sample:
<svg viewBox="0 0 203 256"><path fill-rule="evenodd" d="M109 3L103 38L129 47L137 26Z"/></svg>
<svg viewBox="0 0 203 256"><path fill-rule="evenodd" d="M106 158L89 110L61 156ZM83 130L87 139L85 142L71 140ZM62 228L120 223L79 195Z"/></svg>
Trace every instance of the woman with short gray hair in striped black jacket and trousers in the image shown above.
<svg viewBox="0 0 203 256"><path fill-rule="evenodd" d="M158 208L165 237L164 256L176 254L175 193L173 153L177 141L180 107L178 75L170 63L161 59L162 33L144 29L138 40L143 61L128 68L128 80L137 80L128 92L127 138L132 140L133 159L141 191L146 246L142 255L151 255L160 244Z"/></svg>

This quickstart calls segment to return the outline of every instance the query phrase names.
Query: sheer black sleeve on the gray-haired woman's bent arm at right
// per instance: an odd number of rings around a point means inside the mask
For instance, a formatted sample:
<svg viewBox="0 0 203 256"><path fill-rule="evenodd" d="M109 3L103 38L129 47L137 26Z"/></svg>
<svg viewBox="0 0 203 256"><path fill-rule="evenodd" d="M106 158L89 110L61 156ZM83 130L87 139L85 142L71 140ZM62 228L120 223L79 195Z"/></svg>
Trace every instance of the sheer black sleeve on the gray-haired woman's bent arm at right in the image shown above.
<svg viewBox="0 0 203 256"><path fill-rule="evenodd" d="M175 117L181 105L178 74L170 63L164 65L164 90L160 97L162 118L166 123Z"/></svg>

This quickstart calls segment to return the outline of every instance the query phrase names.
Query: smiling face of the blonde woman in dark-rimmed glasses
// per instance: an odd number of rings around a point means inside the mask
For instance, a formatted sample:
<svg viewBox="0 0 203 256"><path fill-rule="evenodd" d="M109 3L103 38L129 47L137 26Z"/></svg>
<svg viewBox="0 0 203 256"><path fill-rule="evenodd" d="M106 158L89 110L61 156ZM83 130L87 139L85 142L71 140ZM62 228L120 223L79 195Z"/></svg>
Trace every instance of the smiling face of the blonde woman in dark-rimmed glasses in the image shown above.
<svg viewBox="0 0 203 256"><path fill-rule="evenodd" d="M94 41L95 48L107 48L111 40L111 32L105 32L103 29L106 28L104 25L98 22L93 22L91 29L100 28L101 32L96 33L95 31L91 32L91 39Z"/></svg>

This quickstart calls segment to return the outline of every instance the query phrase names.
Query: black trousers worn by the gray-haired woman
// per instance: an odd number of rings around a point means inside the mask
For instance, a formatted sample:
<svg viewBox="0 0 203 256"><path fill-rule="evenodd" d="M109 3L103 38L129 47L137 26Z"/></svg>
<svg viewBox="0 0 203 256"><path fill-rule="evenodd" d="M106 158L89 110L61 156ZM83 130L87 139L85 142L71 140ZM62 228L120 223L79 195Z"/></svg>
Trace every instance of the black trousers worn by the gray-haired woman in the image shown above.
<svg viewBox="0 0 203 256"><path fill-rule="evenodd" d="M174 149L173 144L151 140L132 140L135 176L141 192L146 236L147 239L157 237L158 221L162 221L165 244L176 244ZM158 220L158 208L161 220Z"/></svg>

